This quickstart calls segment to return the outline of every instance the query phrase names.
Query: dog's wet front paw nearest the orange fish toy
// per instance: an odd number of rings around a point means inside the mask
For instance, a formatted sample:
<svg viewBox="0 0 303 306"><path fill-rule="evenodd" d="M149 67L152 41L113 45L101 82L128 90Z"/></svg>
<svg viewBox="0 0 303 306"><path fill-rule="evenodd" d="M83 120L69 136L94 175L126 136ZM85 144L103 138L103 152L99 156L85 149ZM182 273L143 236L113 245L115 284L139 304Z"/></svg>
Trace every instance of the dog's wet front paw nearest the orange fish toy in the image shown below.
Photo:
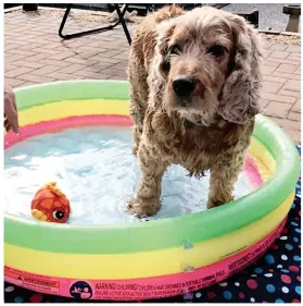
<svg viewBox="0 0 303 306"><path fill-rule="evenodd" d="M126 205L126 211L138 218L147 218L156 215L161 208L160 200L156 198L132 198Z"/></svg>

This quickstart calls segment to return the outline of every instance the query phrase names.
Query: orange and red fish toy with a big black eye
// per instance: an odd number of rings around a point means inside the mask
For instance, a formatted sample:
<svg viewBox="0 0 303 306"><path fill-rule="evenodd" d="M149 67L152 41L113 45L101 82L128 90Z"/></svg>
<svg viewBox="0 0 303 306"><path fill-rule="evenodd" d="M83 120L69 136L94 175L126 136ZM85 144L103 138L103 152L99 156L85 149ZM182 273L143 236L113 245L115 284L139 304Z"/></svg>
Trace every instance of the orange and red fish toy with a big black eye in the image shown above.
<svg viewBox="0 0 303 306"><path fill-rule="evenodd" d="M71 213L70 200L52 182L42 186L31 200L31 215L40 221L65 223Z"/></svg>

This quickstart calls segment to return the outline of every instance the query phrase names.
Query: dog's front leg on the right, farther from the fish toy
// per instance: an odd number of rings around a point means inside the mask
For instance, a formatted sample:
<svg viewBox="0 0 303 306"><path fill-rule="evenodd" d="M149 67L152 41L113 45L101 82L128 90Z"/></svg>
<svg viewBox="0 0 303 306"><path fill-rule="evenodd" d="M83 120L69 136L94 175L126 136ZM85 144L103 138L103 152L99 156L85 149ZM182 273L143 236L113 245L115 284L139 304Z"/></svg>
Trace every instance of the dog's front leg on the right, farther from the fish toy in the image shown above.
<svg viewBox="0 0 303 306"><path fill-rule="evenodd" d="M207 208L233 200L232 192L242 170L245 151L232 152L231 158L218 158L211 168Z"/></svg>

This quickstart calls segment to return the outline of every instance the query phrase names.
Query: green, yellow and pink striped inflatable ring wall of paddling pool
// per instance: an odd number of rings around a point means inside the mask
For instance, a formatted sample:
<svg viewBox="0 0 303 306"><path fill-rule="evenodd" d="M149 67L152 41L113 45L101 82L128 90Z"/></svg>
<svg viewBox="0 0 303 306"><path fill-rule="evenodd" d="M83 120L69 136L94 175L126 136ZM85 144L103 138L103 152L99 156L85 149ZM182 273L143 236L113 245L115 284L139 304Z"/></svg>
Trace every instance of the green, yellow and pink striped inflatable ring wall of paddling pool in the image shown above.
<svg viewBox="0 0 303 306"><path fill-rule="evenodd" d="M4 148L64 128L130 126L128 91L126 82L105 81L17 89L21 134L5 135ZM122 225L58 224L5 213L5 281L115 301L174 296L223 281L279 236L299 178L294 144L263 115L256 117L249 159L258 187L207 211Z"/></svg>

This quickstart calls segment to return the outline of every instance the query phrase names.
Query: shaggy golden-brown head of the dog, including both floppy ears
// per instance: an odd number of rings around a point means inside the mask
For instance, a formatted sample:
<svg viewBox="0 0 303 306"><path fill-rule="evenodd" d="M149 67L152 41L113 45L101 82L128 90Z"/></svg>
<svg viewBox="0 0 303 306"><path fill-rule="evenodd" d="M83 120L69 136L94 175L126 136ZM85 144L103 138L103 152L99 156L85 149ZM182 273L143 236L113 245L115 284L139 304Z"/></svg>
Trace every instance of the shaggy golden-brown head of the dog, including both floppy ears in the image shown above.
<svg viewBox="0 0 303 306"><path fill-rule="evenodd" d="M242 17L195 9L157 28L155 70L166 110L211 125L217 115L243 123L257 113L260 46Z"/></svg>

